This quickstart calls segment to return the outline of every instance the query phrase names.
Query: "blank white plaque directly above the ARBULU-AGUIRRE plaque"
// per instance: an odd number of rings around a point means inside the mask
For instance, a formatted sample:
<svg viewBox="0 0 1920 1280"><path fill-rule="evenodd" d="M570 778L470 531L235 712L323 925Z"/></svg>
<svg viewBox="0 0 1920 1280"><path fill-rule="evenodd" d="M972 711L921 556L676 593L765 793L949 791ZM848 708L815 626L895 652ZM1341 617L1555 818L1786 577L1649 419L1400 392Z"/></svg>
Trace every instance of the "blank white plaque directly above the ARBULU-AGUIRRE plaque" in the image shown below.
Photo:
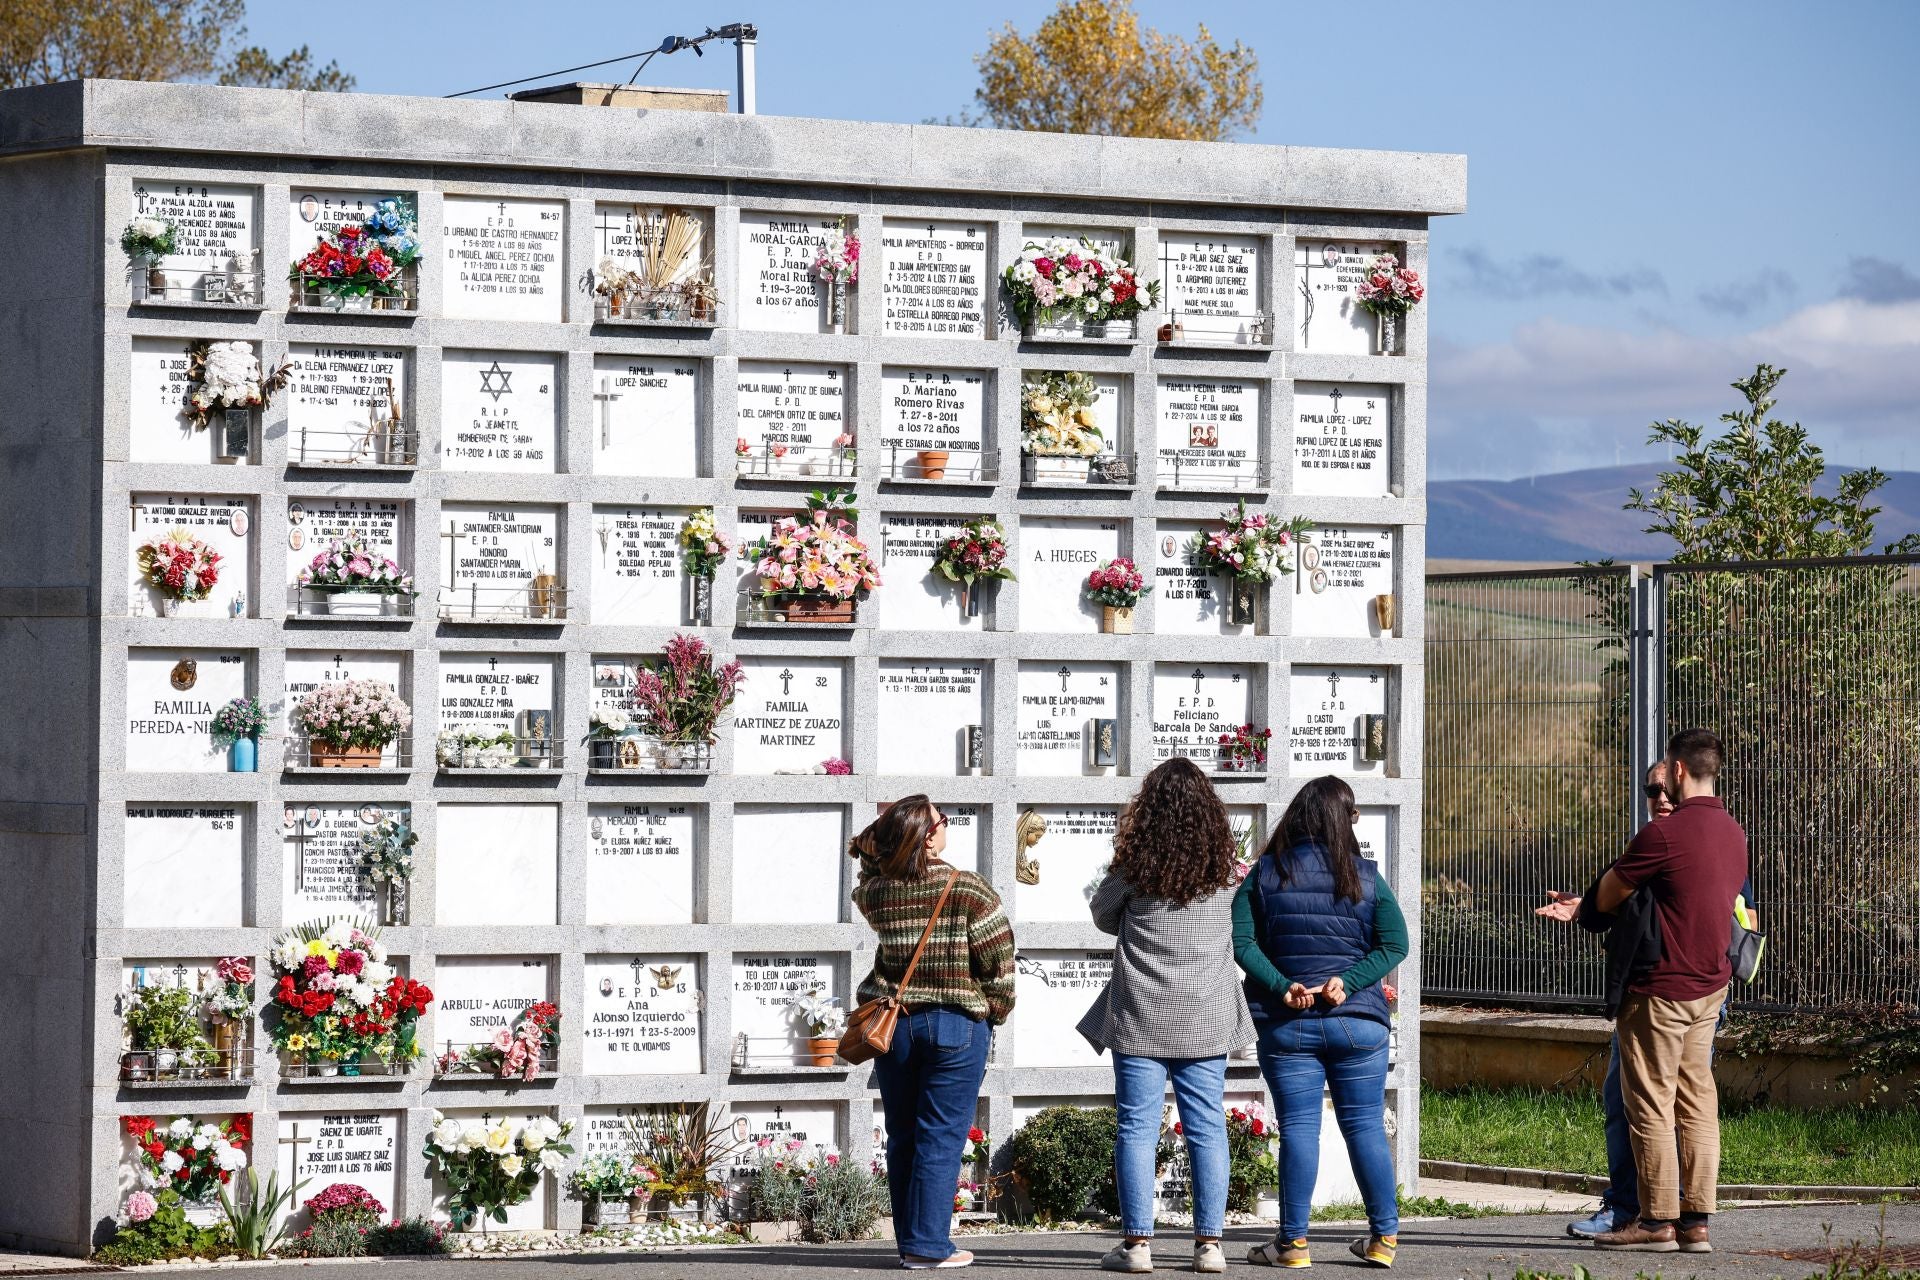
<svg viewBox="0 0 1920 1280"><path fill-rule="evenodd" d="M434 821L436 923L559 923L559 804L442 804Z"/></svg>

